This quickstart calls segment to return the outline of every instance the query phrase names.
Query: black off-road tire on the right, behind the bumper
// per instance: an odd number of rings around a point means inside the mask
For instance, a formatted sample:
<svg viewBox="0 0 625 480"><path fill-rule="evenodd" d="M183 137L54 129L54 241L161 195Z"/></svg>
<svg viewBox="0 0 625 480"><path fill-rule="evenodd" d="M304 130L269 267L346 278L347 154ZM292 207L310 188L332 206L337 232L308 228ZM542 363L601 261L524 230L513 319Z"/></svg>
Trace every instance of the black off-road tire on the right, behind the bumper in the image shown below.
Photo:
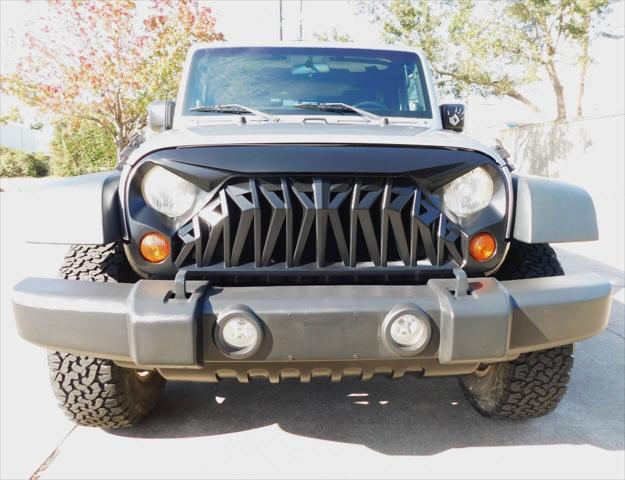
<svg viewBox="0 0 625 480"><path fill-rule="evenodd" d="M513 241L499 280L564 275L553 249L546 244ZM460 377L469 402L487 417L536 418L553 411L566 393L573 368L573 345L524 353L510 362L484 366Z"/></svg>

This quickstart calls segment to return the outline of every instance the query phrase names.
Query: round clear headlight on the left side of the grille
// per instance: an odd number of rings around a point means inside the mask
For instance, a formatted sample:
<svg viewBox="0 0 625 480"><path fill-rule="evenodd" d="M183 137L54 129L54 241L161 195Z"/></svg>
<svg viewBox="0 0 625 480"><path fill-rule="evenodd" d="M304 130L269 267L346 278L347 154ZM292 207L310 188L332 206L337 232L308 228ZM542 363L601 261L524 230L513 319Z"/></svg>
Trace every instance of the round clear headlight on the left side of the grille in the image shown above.
<svg viewBox="0 0 625 480"><path fill-rule="evenodd" d="M179 217L195 202L197 187L169 170L155 166L143 179L143 198L154 210Z"/></svg>

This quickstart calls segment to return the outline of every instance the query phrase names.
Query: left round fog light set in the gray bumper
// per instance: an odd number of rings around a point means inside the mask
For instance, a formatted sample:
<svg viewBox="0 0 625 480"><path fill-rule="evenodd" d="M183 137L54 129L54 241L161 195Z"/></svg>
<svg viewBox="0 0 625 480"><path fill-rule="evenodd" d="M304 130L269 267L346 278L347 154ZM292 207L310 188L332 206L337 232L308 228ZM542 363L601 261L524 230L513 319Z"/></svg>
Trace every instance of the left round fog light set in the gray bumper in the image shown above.
<svg viewBox="0 0 625 480"><path fill-rule="evenodd" d="M247 358L263 341L260 321L247 307L236 307L221 314L215 325L215 343L232 358Z"/></svg>

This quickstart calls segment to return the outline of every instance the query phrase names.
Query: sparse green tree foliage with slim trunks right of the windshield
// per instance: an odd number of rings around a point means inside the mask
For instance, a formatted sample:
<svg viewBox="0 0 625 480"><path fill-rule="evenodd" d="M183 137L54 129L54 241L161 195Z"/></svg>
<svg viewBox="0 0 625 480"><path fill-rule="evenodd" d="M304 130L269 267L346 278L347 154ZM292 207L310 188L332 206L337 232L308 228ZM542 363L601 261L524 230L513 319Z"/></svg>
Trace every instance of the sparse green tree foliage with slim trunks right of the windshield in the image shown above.
<svg viewBox="0 0 625 480"><path fill-rule="evenodd" d="M592 22L608 0L367 2L361 11L381 25L388 43L419 47L444 94L509 96L538 108L519 89L546 73L558 118L566 117L563 86L555 67L563 43L579 50L581 85ZM580 96L583 88L580 89Z"/></svg>

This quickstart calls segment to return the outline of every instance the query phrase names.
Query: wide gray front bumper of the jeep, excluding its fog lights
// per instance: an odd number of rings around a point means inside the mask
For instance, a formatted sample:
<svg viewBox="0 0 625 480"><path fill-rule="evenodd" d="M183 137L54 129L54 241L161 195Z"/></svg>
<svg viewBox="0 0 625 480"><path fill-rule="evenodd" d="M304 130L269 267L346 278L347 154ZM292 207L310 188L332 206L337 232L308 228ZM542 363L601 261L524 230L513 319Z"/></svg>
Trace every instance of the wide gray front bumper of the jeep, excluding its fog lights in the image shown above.
<svg viewBox="0 0 625 480"><path fill-rule="evenodd" d="M291 365L301 370L328 362L373 370L387 364L392 370L395 362L431 375L462 373L583 340L603 330L609 318L610 283L594 274L476 278L469 286L464 297L453 294L453 279L420 286L203 287L180 299L173 281L27 278L15 287L13 305L20 335L48 349L159 368L169 377L178 372L191 378L190 370L208 368L208 379L217 370L240 377L241 369L270 365L272 376ZM264 341L254 356L236 361L217 347L213 329L221 313L241 306L261 320ZM416 306L431 319L430 342L413 356L382 339L384 318L403 306Z"/></svg>

